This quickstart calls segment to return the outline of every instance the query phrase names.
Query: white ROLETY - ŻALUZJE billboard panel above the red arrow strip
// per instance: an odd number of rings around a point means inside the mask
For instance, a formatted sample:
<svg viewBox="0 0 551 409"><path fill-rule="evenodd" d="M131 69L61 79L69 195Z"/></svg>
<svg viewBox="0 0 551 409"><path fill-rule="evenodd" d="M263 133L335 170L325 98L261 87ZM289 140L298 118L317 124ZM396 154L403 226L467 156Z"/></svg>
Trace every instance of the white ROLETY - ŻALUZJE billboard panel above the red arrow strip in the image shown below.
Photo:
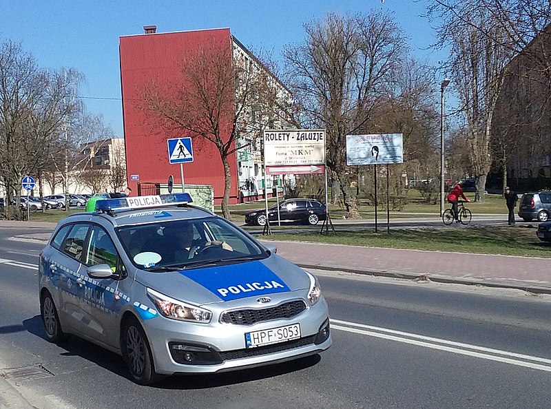
<svg viewBox="0 0 551 409"><path fill-rule="evenodd" d="M264 165L325 165L324 129L264 131Z"/></svg>

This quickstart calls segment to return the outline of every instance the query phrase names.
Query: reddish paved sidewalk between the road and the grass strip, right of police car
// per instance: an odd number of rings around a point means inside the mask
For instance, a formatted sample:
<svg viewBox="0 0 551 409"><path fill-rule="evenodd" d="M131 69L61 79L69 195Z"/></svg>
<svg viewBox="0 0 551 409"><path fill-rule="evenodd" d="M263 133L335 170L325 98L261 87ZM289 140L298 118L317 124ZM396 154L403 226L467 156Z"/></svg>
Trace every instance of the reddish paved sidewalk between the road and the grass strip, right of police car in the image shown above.
<svg viewBox="0 0 551 409"><path fill-rule="evenodd" d="M435 282L551 293L551 259L548 258L298 242L270 243L278 247L279 255L306 269L407 279L423 277Z"/></svg>

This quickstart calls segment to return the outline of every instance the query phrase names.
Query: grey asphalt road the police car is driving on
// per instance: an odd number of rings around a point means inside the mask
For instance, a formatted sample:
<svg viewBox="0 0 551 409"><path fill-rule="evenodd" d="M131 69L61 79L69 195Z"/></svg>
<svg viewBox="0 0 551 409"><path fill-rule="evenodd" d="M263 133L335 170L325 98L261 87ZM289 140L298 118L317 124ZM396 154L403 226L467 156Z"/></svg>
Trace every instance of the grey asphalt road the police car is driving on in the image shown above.
<svg viewBox="0 0 551 409"><path fill-rule="evenodd" d="M322 355L138 386L117 355L76 337L62 346L45 341L42 244L8 240L15 233L21 229L0 229L0 375L39 408L548 408L551 401L551 296L323 271L313 272L329 302L333 346Z"/></svg>

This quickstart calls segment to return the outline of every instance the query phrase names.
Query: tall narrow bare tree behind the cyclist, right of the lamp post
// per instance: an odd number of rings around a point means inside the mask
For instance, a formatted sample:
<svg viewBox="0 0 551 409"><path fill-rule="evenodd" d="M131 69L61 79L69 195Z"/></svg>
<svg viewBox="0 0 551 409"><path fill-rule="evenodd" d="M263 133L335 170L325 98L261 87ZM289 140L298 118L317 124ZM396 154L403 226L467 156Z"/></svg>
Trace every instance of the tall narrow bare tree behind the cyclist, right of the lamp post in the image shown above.
<svg viewBox="0 0 551 409"><path fill-rule="evenodd" d="M475 200L483 201L492 165L492 117L512 59L512 47L484 0L459 2L453 10L436 1L430 11L441 17L439 45L447 45L450 50L446 70L468 124L470 157L477 178ZM485 32L481 27L486 28Z"/></svg>

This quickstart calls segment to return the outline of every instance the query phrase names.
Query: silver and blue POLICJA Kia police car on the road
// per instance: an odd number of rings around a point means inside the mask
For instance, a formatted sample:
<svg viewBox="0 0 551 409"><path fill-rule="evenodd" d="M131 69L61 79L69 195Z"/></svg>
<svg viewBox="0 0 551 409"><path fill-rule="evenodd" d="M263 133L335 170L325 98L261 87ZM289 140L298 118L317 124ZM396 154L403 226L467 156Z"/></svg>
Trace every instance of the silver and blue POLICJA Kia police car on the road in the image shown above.
<svg viewBox="0 0 551 409"><path fill-rule="evenodd" d="M216 373L331 346L318 280L187 193L98 200L40 255L48 340L122 355L132 379Z"/></svg>

